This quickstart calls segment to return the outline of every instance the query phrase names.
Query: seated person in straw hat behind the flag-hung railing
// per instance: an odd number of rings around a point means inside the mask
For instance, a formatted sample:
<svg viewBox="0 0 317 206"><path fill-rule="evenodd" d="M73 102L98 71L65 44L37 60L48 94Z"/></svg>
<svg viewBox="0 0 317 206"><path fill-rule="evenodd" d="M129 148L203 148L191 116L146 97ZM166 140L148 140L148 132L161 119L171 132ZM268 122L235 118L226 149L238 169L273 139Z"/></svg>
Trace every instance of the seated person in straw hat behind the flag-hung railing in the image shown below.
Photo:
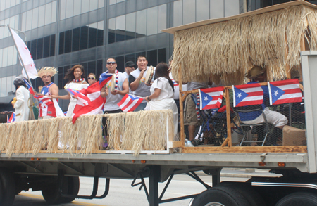
<svg viewBox="0 0 317 206"><path fill-rule="evenodd" d="M258 83L258 82L266 82L266 69L260 66L254 66L247 72L246 77L250 79L250 82L247 84L252 84L252 83ZM280 114L280 112L275 112L270 110L270 108L266 107L268 105L268 86L263 85L261 86L263 89L263 103L262 103L262 108L263 112L266 115L266 120L268 123L273 124L276 130L278 131L277 137L282 136L282 128L287 124L287 117L284 115ZM263 115L261 115L261 111L254 111L254 112L247 112L247 113L240 113L240 120L245 123L245 124L259 124L264 122ZM273 143L276 143L276 140L273 140Z"/></svg>

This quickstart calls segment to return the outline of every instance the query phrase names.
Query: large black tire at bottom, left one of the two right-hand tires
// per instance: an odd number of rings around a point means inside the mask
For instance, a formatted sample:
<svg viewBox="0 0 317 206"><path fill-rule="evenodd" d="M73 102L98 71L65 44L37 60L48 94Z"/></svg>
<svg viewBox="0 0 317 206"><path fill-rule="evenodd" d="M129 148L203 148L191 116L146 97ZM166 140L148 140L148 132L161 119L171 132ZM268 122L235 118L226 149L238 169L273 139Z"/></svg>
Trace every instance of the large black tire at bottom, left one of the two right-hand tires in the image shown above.
<svg viewBox="0 0 317 206"><path fill-rule="evenodd" d="M250 206L244 196L237 192L234 188L217 186L210 188L197 198L194 198L192 206L208 206L208 205L224 205L224 206Z"/></svg>

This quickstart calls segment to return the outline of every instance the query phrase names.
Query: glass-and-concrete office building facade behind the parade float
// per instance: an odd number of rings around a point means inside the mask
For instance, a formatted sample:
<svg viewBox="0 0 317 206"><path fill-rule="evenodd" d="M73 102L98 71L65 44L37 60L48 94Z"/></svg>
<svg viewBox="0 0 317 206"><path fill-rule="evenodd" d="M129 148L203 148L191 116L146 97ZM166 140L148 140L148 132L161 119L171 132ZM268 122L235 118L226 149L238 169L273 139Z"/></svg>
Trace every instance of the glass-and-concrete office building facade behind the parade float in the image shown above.
<svg viewBox="0 0 317 206"><path fill-rule="evenodd" d="M149 65L167 62L173 53L168 27L237 15L290 0L1 0L0 112L12 110L13 79L21 74L10 25L25 38L35 66L54 66L54 82L63 89L66 71L85 67L86 75L106 70L106 58L125 62L147 56ZM316 1L311 1L316 3ZM24 32L24 33L22 33ZM35 89L42 79L32 80ZM68 103L61 101L63 110Z"/></svg>

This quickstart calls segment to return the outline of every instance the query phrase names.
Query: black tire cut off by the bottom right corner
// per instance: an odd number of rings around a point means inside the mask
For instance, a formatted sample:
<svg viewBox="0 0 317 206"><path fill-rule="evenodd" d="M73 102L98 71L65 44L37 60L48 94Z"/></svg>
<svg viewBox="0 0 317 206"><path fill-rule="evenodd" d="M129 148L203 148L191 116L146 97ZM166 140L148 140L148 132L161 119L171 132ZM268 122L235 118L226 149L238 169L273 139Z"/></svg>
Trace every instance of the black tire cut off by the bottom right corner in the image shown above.
<svg viewBox="0 0 317 206"><path fill-rule="evenodd" d="M286 195L275 206L316 206L317 195L310 192L296 192Z"/></svg>

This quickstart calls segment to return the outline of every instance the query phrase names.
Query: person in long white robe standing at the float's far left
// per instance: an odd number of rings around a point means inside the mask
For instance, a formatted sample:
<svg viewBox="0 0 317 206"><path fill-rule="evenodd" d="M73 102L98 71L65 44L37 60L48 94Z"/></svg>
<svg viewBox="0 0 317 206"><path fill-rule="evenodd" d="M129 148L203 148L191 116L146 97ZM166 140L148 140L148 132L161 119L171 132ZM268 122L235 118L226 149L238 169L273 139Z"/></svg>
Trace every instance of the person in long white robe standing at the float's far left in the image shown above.
<svg viewBox="0 0 317 206"><path fill-rule="evenodd" d="M29 120L30 109L27 103L30 98L30 92L26 89L26 85L22 77L15 77L13 84L16 89L16 101L12 101L13 108L15 108L15 122Z"/></svg>

